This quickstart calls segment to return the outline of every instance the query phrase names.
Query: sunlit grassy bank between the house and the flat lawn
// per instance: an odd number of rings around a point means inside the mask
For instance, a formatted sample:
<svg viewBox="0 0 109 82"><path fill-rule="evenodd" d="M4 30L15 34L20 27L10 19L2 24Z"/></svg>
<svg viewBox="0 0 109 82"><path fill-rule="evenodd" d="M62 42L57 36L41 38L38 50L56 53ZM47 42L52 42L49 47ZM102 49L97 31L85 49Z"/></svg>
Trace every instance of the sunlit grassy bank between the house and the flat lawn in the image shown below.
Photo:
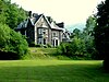
<svg viewBox="0 0 109 82"><path fill-rule="evenodd" d="M24 57L24 59L57 59L55 54L57 54L57 48L28 48L29 54Z"/></svg>

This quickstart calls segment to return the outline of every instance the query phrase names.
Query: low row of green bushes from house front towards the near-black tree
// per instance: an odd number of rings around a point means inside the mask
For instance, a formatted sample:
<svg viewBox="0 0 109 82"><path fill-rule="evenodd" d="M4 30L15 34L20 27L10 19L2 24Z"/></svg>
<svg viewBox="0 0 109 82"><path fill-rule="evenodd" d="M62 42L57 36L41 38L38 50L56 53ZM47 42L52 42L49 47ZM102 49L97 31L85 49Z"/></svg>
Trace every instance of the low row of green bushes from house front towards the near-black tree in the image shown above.
<svg viewBox="0 0 109 82"><path fill-rule="evenodd" d="M58 55L72 59L94 59L95 54L96 51L90 46L87 47L83 39L76 37L71 43L61 43L58 47Z"/></svg>

